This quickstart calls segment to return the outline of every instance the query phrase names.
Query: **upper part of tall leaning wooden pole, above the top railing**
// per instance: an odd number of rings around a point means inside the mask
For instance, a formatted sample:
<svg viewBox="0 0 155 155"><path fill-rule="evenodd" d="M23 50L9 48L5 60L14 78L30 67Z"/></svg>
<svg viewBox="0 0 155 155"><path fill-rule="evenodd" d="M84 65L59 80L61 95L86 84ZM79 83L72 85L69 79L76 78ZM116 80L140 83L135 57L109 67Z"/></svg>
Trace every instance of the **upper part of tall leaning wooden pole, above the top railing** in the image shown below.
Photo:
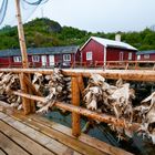
<svg viewBox="0 0 155 155"><path fill-rule="evenodd" d="M23 25L22 25L22 20L21 20L20 0L16 0L16 8L17 8L17 19L18 19L19 42L20 42L20 50L21 50L21 55L22 55L22 66L25 69L29 65L28 65L28 54L27 54L27 48L25 48Z"/></svg>

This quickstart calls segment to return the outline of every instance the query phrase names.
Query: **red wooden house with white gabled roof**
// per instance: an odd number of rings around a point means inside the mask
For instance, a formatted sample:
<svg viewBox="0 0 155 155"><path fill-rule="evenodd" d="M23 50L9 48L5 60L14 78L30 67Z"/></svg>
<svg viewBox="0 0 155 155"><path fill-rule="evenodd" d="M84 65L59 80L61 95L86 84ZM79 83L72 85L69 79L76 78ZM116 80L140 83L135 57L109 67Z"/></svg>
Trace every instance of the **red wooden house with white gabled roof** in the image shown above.
<svg viewBox="0 0 155 155"><path fill-rule="evenodd" d="M91 37L80 49L81 62L86 64L105 63L107 61L134 61L134 46L114 40Z"/></svg>

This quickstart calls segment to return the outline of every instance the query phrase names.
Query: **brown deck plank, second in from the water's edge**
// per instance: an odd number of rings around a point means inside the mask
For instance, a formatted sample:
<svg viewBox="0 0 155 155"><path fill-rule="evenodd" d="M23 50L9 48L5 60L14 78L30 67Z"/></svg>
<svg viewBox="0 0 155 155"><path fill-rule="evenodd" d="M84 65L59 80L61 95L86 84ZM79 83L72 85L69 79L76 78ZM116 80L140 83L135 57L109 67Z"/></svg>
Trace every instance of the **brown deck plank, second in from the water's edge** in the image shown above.
<svg viewBox="0 0 155 155"><path fill-rule="evenodd" d="M33 122L33 121L29 120L28 117L22 116L18 113L14 113L12 116L17 117L18 120L21 120L21 122L24 122L24 124L27 124L27 125L31 125L31 127L32 126L38 127L40 132L44 133L49 137L51 137L58 142L61 142L62 144L71 147L72 149L74 149L81 154L84 154L84 155L94 155L94 154L105 155L106 154L106 153L103 153L94 147L91 147L91 146L80 142L79 140L71 138L70 136L64 135L64 134L62 134L55 130L52 130L48 126L44 126L43 124L39 124L37 122Z"/></svg>

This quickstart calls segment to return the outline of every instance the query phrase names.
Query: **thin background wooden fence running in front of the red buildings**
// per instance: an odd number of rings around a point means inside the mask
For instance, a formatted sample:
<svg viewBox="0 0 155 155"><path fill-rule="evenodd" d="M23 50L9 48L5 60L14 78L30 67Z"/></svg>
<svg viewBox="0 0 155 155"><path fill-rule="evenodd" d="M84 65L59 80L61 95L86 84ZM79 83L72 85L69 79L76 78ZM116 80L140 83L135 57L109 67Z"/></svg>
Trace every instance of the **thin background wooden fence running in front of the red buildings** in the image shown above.
<svg viewBox="0 0 155 155"><path fill-rule="evenodd" d="M54 66L71 69L110 69L110 70L155 70L155 61L94 61L94 62L69 62L42 65L41 62L29 62L29 68L50 69ZM22 68L22 63L0 63L0 68Z"/></svg>

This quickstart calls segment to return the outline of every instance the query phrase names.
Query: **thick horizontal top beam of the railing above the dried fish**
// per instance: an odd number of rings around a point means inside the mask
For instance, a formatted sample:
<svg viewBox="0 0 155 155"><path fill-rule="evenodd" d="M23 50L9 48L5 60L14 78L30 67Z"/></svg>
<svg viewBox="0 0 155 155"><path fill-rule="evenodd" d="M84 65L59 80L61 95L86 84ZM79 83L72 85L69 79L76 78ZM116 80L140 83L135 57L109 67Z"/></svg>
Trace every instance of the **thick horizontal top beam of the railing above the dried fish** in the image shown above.
<svg viewBox="0 0 155 155"><path fill-rule="evenodd" d="M0 72L12 72L12 73L41 73L52 74L52 69L0 69ZM84 70L84 69L64 69L63 73L69 76L90 76L92 73L101 74L105 79L123 79L127 81L147 81L155 82L155 71L147 70Z"/></svg>

